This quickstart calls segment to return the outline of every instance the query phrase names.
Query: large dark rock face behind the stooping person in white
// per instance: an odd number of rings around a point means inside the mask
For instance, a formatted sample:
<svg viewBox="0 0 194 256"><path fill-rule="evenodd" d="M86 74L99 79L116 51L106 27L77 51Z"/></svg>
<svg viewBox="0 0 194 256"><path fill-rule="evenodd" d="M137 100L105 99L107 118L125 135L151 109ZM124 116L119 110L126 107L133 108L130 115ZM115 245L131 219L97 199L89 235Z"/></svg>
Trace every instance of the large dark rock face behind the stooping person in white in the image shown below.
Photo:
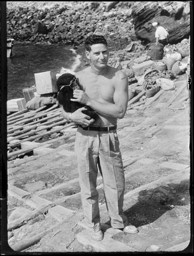
<svg viewBox="0 0 194 256"><path fill-rule="evenodd" d="M189 3L179 2L138 2L132 8L136 36L145 43L155 42L155 29L150 29L148 23L157 21L162 27L169 30L169 43L179 43L189 38L190 6Z"/></svg>

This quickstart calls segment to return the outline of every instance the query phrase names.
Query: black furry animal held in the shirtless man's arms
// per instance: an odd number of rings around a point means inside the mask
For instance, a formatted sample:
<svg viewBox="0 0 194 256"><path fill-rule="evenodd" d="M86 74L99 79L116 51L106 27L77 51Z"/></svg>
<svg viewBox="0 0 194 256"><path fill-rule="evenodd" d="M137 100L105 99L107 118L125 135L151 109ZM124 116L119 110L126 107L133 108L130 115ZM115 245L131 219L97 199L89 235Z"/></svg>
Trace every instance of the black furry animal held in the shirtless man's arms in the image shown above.
<svg viewBox="0 0 194 256"><path fill-rule="evenodd" d="M71 86L64 86L69 84L71 84ZM74 98L73 97L74 89L81 90L80 84L78 82L78 78L76 78L74 74L70 74L70 73L62 74L56 80L56 85L58 87L58 95L56 99L58 100L58 103L63 106L66 112L72 113L76 111L78 108L82 108L83 106L85 106L83 104L80 104L79 102L73 102L70 100L70 98ZM83 110L82 112L84 114L87 114L91 118L96 119L98 116L96 112L92 110L92 108L90 108L89 106L85 106L85 107L87 108L87 110Z"/></svg>

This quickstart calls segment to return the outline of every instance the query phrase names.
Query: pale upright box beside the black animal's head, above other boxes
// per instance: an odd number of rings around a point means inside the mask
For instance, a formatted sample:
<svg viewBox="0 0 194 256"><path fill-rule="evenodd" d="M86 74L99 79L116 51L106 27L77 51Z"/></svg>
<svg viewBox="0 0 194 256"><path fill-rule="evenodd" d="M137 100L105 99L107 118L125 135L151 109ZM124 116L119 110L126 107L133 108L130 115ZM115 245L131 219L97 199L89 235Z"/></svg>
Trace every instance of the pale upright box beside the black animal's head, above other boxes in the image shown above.
<svg viewBox="0 0 194 256"><path fill-rule="evenodd" d="M57 92L56 74L52 71L35 74L37 94Z"/></svg>

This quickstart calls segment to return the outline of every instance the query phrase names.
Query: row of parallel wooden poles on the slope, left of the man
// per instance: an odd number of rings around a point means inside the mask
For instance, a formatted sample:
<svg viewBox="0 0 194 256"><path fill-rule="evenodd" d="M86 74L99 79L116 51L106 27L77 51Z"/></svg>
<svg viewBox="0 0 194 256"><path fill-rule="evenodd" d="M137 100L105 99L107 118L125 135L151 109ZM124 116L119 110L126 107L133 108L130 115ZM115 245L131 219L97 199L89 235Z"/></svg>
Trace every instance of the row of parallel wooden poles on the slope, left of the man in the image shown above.
<svg viewBox="0 0 194 256"><path fill-rule="evenodd" d="M7 159L38 154L37 148L40 147L43 152L52 150L48 147L66 138L64 130L69 126L57 104L50 108L42 106L33 111L25 109L7 116Z"/></svg>

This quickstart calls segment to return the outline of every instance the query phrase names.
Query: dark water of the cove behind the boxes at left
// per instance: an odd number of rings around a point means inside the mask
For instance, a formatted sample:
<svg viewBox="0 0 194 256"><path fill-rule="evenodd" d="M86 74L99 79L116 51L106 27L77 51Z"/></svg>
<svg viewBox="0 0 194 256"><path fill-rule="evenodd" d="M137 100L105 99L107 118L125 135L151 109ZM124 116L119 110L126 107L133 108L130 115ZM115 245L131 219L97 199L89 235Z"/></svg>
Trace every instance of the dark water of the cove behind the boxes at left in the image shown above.
<svg viewBox="0 0 194 256"><path fill-rule="evenodd" d="M23 88L35 85L35 73L74 70L78 64L79 55L64 45L15 43L13 58L7 59L7 100L23 98Z"/></svg>

